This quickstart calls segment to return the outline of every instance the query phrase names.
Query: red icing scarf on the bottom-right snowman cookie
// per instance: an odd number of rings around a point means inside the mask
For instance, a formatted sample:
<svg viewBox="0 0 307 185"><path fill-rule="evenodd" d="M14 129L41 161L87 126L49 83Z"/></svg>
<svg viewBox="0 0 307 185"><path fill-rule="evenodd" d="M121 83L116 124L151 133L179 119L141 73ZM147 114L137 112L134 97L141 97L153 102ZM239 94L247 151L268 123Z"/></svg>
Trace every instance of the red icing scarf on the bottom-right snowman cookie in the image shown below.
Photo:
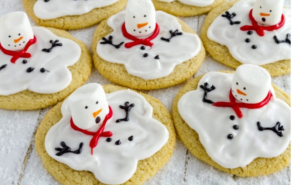
<svg viewBox="0 0 307 185"><path fill-rule="evenodd" d="M231 107L231 108L233 108L233 110L235 111L237 116L239 118L242 118L243 114L242 114L240 108L249 108L249 109L262 108L263 106L265 106L266 104L269 103L272 96L273 95L272 95L271 91L269 91L266 98L264 100L262 100L261 102L257 103L257 104L237 103L237 102L235 102L235 97L232 95L232 92L231 92L231 89L230 89L230 93L229 93L230 102L219 101L219 102L216 102L212 105L216 106L216 107Z"/></svg>

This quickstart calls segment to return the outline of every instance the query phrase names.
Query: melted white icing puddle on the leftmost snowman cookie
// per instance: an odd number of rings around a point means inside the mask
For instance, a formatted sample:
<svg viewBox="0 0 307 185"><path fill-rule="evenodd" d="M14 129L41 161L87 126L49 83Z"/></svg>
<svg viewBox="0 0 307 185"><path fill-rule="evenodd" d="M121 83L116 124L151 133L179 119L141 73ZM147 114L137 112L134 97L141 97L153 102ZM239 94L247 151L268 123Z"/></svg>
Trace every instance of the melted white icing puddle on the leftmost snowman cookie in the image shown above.
<svg viewBox="0 0 307 185"><path fill-rule="evenodd" d="M72 81L72 74L67 66L75 64L81 56L80 46L72 40L58 37L46 28L33 27L36 43L27 50L30 58L19 58L14 63L10 62L12 56L0 50L0 66L7 65L0 70L0 95L10 95L26 89L51 94L65 89ZM59 40L62 46L57 46L51 52L43 52L43 48L50 48L50 40ZM28 62L23 64L23 60ZM27 68L34 70L27 73ZM44 73L40 69L44 68ZM49 72L48 72L48 71Z"/></svg>

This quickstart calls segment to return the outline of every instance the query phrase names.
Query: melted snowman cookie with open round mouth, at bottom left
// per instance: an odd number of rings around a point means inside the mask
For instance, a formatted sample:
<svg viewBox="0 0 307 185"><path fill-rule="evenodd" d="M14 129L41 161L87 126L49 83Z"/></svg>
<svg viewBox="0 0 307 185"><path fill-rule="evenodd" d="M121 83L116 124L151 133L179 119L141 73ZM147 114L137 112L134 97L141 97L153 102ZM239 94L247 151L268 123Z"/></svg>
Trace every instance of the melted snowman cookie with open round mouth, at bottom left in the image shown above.
<svg viewBox="0 0 307 185"><path fill-rule="evenodd" d="M60 183L142 184L166 164L175 141L171 115L159 100L91 83L47 113L35 144Z"/></svg>

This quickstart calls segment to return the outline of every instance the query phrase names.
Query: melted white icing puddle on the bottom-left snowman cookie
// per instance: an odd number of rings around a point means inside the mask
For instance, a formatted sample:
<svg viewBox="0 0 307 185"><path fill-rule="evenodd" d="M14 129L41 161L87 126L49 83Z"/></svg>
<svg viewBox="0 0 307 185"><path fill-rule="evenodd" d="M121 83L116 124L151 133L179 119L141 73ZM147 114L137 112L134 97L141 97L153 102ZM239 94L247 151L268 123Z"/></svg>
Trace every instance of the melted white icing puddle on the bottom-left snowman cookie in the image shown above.
<svg viewBox="0 0 307 185"><path fill-rule="evenodd" d="M100 88L102 89L101 86ZM107 142L106 137L100 137L91 155L89 142L93 136L73 130L70 126L69 97L61 107L63 118L52 126L46 135L45 148L49 156L74 170L93 172L102 183L121 184L133 176L138 160L151 157L166 144L169 133L163 124L152 118L152 106L137 92L120 90L108 93L106 97L113 110L113 117L107 122L104 131L113 133L111 142ZM84 99L87 99L87 96L84 96ZM129 112L129 121L116 123L117 119L126 116L125 111L119 108L119 105L126 101L135 104ZM89 101L88 104L93 102ZM97 125L91 131L98 130L100 126L101 124ZM133 141L128 140L131 135ZM115 145L117 140L120 140L120 145ZM83 142L82 152L56 156L55 148L61 147L60 142L63 141L71 150L78 149L79 144Z"/></svg>

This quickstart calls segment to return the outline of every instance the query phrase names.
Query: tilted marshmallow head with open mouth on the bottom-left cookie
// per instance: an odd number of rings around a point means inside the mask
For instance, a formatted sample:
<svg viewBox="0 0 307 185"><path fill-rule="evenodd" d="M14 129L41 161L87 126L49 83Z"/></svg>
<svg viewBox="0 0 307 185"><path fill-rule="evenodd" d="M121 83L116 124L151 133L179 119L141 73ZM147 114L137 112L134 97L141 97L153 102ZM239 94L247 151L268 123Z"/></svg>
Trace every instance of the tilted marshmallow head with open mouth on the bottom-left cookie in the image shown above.
<svg viewBox="0 0 307 185"><path fill-rule="evenodd" d="M76 126L87 130L101 124L109 113L109 103L101 85L90 83L69 96L69 108Z"/></svg>

